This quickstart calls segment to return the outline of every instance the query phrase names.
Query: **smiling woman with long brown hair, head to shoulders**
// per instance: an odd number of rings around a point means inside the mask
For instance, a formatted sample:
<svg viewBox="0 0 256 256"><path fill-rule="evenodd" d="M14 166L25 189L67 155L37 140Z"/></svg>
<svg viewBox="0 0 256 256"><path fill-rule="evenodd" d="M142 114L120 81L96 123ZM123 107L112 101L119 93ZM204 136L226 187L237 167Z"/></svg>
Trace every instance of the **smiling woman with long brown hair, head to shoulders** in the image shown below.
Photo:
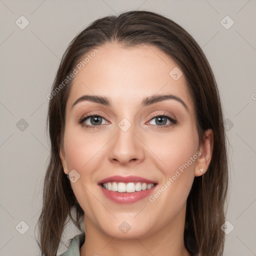
<svg viewBox="0 0 256 256"><path fill-rule="evenodd" d="M56 255L67 217L81 234L62 256L223 254L223 116L191 35L149 11L99 18L47 97L42 255Z"/></svg>

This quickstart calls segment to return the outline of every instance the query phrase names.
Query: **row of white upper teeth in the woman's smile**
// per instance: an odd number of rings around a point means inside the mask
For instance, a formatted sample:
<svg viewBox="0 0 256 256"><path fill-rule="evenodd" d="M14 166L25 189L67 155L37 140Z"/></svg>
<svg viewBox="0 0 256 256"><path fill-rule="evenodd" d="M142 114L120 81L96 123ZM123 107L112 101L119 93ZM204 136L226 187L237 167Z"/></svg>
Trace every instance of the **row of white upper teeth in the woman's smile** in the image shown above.
<svg viewBox="0 0 256 256"><path fill-rule="evenodd" d="M118 191L118 192L128 192L128 193L132 193L135 191L141 191L141 190L146 190L146 189L150 189L154 186L153 183L145 183L145 182L128 182L128 183L124 183L124 182L107 182L107 183L103 183L102 186L104 188L106 188L107 190L110 191Z"/></svg>

